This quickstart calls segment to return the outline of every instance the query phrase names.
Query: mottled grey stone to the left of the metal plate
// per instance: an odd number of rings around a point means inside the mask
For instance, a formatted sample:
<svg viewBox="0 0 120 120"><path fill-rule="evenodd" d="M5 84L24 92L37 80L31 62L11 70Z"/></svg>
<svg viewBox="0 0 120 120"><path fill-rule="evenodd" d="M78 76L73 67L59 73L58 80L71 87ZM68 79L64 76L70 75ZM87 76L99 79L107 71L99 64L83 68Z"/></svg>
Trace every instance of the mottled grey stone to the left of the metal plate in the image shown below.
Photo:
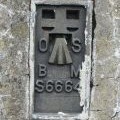
<svg viewBox="0 0 120 120"><path fill-rule="evenodd" d="M0 120L28 119L29 0L0 0Z"/></svg>

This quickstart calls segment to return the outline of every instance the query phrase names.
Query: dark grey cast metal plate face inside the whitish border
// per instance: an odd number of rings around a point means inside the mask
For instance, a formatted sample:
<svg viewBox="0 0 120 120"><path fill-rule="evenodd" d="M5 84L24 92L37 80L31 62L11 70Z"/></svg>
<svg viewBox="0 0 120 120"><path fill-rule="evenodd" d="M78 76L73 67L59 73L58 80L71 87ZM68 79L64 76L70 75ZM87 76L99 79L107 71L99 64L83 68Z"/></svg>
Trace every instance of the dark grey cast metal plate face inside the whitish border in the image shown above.
<svg viewBox="0 0 120 120"><path fill-rule="evenodd" d="M35 113L80 113L86 8L36 6Z"/></svg>

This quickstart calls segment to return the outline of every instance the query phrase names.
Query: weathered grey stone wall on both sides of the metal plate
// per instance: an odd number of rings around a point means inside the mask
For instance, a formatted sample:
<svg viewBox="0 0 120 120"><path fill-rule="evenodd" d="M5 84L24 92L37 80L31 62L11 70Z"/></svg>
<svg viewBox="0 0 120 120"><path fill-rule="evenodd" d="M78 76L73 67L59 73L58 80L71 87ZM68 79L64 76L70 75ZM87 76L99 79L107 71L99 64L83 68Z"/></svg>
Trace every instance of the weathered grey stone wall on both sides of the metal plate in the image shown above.
<svg viewBox="0 0 120 120"><path fill-rule="evenodd" d="M120 120L120 0L94 3L89 116ZM29 19L30 0L0 0L0 120L29 120Z"/></svg>

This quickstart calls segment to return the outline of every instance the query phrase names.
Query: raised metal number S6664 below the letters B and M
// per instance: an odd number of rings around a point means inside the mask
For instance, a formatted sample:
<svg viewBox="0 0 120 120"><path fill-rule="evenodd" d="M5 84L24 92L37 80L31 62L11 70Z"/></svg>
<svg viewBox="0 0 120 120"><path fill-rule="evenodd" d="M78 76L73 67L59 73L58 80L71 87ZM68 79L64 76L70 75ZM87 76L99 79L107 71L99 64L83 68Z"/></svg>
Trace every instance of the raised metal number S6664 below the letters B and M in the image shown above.
<svg viewBox="0 0 120 120"><path fill-rule="evenodd" d="M35 91L38 93L42 93L44 91L51 93L53 91L57 93L61 92L67 92L71 93L72 91L78 91L79 90L79 82L76 85L73 85L73 82L71 80L67 81L53 81L48 80L47 82L44 82L43 80L37 80L35 83Z"/></svg>

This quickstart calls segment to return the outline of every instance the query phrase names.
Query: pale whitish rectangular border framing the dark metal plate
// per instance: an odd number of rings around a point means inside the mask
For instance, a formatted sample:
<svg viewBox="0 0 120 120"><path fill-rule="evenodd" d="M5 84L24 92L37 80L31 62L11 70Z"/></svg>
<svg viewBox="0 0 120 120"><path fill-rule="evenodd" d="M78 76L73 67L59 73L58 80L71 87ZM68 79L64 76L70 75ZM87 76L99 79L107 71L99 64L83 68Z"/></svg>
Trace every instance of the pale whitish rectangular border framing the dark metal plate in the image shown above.
<svg viewBox="0 0 120 120"><path fill-rule="evenodd" d="M82 63L82 69L80 70L81 79L81 92L80 92L80 106L83 107L83 111L80 114L41 114L34 113L34 40L35 40L35 15L36 5L83 5L87 9L86 16L86 29L85 29L85 45L86 54L85 61ZM30 65L30 84L29 84L29 119L82 119L86 120L89 117L90 108L90 80L91 80L91 68L92 68L92 11L93 2L91 0L31 0L31 14L30 14L30 51L29 51L29 65Z"/></svg>

